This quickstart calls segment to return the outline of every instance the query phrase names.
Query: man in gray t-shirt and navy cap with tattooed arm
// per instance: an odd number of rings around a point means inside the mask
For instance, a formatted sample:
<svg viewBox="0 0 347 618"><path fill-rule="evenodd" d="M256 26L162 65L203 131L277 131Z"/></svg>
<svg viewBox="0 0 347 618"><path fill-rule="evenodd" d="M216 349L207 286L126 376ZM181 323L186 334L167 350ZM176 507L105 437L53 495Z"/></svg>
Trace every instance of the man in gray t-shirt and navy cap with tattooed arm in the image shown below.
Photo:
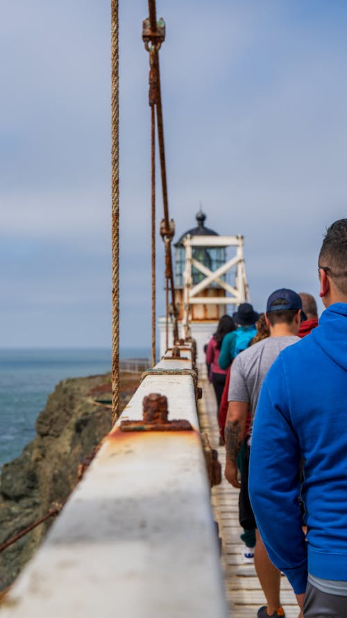
<svg viewBox="0 0 347 618"><path fill-rule="evenodd" d="M257 399L266 373L280 351L285 347L300 341L298 329L301 319L305 319L302 311L301 297L293 290L276 290L266 304L266 323L270 328L270 337L264 339L235 358L230 371L230 386L228 391L228 413L226 417L226 479L232 486L239 488L239 521L242 528L256 528L255 518L248 496L248 461L251 443L251 430ZM244 442L246 420L251 414L251 425L248 429L247 445L242 462L241 484L237 480L237 455ZM271 516L271 514L269 514ZM284 616L280 604L280 571L270 562L264 544L256 530L254 564L257 576L262 585L267 605L257 612L258 618L269 616Z"/></svg>

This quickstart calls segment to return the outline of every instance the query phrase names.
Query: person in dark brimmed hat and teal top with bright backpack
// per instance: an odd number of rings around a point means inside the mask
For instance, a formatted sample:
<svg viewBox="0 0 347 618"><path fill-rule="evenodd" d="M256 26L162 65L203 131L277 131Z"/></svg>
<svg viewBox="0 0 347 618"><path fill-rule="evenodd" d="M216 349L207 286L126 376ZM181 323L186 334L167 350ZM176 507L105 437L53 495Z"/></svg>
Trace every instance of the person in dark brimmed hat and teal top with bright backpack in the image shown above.
<svg viewBox="0 0 347 618"><path fill-rule="evenodd" d="M248 347L248 343L257 334L255 322L257 322L258 317L259 313L253 310L250 303L242 303L238 310L232 314L237 329L223 338L218 359L221 369L228 369L235 356Z"/></svg>

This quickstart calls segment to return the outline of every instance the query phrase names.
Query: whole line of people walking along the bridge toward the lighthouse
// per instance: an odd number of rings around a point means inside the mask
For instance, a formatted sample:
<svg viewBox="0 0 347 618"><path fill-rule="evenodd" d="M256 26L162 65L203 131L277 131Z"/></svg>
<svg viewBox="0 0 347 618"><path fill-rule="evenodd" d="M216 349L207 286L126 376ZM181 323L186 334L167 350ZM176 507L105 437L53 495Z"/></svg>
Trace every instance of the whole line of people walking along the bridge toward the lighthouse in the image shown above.
<svg viewBox="0 0 347 618"><path fill-rule="evenodd" d="M347 617L347 219L328 229L318 274L320 319L311 294L283 287L263 314L224 315L206 349L258 618L285 616L281 573L299 617Z"/></svg>

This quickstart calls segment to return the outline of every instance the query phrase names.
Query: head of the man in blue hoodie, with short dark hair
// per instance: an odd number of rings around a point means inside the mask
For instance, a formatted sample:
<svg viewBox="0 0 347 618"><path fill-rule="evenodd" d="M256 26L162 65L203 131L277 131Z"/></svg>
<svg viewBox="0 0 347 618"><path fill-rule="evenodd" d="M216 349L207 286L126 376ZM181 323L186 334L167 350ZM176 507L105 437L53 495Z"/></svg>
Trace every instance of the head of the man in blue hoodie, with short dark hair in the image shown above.
<svg viewBox="0 0 347 618"><path fill-rule="evenodd" d="M328 228L318 265L327 269L337 290L347 295L347 219L339 219Z"/></svg>

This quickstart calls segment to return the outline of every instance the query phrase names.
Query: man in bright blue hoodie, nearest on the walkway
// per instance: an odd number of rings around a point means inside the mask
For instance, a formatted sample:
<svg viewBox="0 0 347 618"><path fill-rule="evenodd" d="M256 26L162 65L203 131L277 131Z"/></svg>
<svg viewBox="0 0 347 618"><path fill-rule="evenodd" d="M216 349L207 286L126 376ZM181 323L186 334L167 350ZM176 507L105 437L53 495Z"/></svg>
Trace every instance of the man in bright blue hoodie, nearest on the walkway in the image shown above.
<svg viewBox="0 0 347 618"><path fill-rule="evenodd" d="M346 618L347 219L328 229L318 271L319 326L280 353L260 392L249 492L269 557L304 617Z"/></svg>

